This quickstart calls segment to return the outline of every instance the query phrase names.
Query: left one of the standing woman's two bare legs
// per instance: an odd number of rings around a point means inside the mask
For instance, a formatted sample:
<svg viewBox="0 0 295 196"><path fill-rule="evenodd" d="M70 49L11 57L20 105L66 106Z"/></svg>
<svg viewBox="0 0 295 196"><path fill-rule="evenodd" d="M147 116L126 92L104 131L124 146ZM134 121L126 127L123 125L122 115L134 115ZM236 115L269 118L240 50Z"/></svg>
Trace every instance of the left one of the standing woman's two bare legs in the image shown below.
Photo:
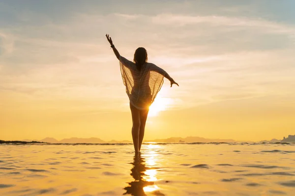
<svg viewBox="0 0 295 196"><path fill-rule="evenodd" d="M130 110L132 115L132 139L135 153L139 153L139 129L140 129L140 110L136 109L130 103Z"/></svg>

